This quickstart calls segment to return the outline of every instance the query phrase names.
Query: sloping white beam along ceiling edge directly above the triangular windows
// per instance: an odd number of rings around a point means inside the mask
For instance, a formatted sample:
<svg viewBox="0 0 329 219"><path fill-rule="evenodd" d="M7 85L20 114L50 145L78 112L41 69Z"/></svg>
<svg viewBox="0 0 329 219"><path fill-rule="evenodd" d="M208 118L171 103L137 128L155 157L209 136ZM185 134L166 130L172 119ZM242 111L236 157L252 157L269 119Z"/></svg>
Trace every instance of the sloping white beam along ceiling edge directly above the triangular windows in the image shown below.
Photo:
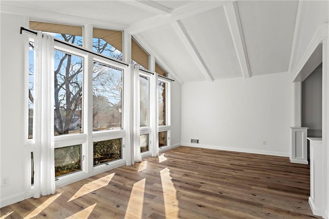
<svg viewBox="0 0 329 219"><path fill-rule="evenodd" d="M152 49L152 46L148 43L145 38L140 33L137 33L134 35L134 39L149 53L153 54L157 60L157 63L166 70L170 75L174 76L175 79L180 83L184 84L184 81L181 80L181 78L175 74L175 72L170 68L170 66L161 58L161 56L156 52L154 49Z"/></svg>

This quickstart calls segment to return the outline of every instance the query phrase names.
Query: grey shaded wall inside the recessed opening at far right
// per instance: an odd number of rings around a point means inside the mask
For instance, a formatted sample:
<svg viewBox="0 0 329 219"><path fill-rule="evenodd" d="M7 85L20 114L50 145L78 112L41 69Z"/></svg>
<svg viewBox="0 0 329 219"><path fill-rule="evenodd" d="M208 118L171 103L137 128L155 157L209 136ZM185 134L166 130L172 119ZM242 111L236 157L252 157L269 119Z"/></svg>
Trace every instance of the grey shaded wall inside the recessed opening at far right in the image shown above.
<svg viewBox="0 0 329 219"><path fill-rule="evenodd" d="M322 130L322 65L302 82L302 127Z"/></svg>

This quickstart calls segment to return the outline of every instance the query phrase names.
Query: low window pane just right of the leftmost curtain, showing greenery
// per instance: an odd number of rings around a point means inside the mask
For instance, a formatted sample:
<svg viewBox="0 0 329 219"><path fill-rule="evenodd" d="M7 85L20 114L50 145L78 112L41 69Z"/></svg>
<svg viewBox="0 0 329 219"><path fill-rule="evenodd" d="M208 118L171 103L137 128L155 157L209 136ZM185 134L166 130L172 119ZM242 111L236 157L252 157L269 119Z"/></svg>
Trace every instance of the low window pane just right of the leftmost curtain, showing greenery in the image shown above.
<svg viewBox="0 0 329 219"><path fill-rule="evenodd" d="M56 148L55 177L81 170L81 144Z"/></svg>

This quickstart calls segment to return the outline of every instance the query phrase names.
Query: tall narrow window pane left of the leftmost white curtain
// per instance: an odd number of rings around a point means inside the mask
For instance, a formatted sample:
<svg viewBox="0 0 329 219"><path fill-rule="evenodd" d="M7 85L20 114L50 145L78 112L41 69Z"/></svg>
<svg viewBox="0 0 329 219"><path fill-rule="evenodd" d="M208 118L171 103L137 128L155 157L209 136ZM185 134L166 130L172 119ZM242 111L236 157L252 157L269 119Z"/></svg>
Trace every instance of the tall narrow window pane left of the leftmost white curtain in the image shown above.
<svg viewBox="0 0 329 219"><path fill-rule="evenodd" d="M28 138L33 138L34 42L29 41Z"/></svg>

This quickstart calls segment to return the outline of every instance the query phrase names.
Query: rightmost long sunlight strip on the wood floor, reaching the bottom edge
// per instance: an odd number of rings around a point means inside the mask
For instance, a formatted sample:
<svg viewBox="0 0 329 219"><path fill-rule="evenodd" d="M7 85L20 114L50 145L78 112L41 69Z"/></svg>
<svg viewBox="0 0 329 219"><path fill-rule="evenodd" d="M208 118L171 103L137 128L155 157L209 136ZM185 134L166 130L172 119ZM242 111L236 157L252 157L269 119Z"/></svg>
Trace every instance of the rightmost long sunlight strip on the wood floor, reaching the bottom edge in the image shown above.
<svg viewBox="0 0 329 219"><path fill-rule="evenodd" d="M163 202L165 204L166 218L178 218L179 208L176 189L168 168L160 171Z"/></svg>

